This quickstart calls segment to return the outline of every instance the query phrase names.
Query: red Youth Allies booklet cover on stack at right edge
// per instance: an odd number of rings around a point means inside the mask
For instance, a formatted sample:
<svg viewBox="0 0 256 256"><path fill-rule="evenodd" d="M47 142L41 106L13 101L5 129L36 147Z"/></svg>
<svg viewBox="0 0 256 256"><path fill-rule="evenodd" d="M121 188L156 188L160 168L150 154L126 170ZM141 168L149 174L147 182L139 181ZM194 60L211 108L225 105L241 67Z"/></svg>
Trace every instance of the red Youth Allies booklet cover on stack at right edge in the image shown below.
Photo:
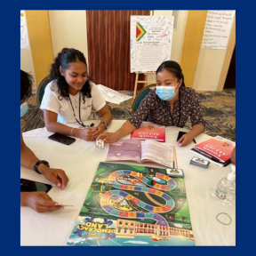
<svg viewBox="0 0 256 256"><path fill-rule="evenodd" d="M230 159L231 153L235 148L235 143L231 140L217 136L216 139L205 140L204 142L197 144L195 148L210 156L216 157L220 162L225 163Z"/></svg>

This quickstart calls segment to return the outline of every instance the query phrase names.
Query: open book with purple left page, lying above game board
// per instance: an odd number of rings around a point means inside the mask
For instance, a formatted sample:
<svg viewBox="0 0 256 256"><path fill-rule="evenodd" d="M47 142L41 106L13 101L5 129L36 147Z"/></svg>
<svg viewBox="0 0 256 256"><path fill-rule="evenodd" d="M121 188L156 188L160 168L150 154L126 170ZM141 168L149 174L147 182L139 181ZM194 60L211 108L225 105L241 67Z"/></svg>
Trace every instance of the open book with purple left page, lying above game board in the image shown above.
<svg viewBox="0 0 256 256"><path fill-rule="evenodd" d="M177 167L175 146L155 140L118 140L109 144L106 161L152 162L170 168Z"/></svg>

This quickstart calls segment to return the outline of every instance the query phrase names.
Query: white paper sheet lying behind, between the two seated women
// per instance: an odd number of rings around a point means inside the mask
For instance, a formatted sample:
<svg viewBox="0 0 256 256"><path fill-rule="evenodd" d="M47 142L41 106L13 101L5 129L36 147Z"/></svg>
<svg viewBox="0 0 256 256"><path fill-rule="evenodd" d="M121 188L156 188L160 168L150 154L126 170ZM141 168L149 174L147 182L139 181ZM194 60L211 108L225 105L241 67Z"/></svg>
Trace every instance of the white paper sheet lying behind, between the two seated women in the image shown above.
<svg viewBox="0 0 256 256"><path fill-rule="evenodd" d="M124 93L116 92L113 89L110 89L102 84L98 84L98 89L100 90L100 93L102 94L104 100L115 103L115 104L120 104L121 102L125 100L130 100L132 99L132 96L125 95Z"/></svg>

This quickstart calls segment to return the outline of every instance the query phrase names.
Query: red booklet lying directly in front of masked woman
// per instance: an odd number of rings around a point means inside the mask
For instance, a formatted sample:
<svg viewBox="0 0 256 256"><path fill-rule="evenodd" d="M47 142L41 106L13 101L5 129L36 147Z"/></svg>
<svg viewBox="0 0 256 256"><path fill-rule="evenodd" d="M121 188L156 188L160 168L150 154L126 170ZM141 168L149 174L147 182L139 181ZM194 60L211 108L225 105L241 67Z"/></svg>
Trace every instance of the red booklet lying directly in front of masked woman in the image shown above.
<svg viewBox="0 0 256 256"><path fill-rule="evenodd" d="M140 126L131 134L131 139L136 140L157 140L165 142L165 126L147 124Z"/></svg>

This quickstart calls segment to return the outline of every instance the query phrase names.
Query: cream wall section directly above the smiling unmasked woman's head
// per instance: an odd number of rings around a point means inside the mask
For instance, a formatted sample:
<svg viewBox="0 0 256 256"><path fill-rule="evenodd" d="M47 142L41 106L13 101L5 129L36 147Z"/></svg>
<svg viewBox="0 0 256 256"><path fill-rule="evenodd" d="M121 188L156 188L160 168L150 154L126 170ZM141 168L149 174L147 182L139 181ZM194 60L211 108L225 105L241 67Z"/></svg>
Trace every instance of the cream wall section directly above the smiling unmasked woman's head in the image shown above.
<svg viewBox="0 0 256 256"><path fill-rule="evenodd" d="M62 48L84 52L88 62L86 11L49 11L54 57Z"/></svg>

